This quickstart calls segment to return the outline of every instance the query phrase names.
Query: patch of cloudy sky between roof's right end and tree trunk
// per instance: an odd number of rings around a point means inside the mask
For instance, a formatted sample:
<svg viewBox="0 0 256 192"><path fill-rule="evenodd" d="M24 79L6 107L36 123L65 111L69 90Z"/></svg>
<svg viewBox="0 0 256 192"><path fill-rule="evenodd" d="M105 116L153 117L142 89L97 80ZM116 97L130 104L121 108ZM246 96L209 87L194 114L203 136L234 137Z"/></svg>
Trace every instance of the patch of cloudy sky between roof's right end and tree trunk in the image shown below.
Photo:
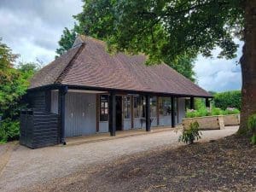
<svg viewBox="0 0 256 192"><path fill-rule="evenodd" d="M241 57L242 43L238 42L237 57L233 60L218 59L219 49L212 51L213 58L197 57L195 73L198 84L206 90L225 91L241 89L241 66L238 61Z"/></svg>

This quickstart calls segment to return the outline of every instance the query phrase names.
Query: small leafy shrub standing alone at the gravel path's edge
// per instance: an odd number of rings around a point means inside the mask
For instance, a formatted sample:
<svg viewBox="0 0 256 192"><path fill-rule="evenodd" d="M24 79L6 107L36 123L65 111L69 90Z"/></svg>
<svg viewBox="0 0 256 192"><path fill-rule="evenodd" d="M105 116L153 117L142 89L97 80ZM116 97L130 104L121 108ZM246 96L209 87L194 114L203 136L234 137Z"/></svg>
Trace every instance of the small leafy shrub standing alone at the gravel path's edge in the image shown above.
<svg viewBox="0 0 256 192"><path fill-rule="evenodd" d="M183 130L183 134L178 137L178 142L183 143L194 143L195 139L198 140L201 138L201 131L199 131L199 124L197 121L190 123L189 129Z"/></svg>

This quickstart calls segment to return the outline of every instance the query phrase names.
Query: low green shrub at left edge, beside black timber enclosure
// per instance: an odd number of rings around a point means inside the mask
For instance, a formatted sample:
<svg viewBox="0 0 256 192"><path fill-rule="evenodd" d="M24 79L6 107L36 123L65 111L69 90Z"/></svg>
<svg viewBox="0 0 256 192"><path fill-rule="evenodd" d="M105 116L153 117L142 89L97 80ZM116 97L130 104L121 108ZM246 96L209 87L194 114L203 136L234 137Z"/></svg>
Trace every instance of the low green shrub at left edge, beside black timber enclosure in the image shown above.
<svg viewBox="0 0 256 192"><path fill-rule="evenodd" d="M0 143L17 140L20 137L20 121L4 119L0 124Z"/></svg>

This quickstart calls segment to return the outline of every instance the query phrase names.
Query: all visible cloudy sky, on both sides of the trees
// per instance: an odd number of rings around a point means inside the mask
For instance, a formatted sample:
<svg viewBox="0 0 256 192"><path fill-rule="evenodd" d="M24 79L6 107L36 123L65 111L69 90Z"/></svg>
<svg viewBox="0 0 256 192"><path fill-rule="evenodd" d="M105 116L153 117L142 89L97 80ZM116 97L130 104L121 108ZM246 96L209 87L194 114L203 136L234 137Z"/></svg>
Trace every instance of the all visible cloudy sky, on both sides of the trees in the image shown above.
<svg viewBox="0 0 256 192"><path fill-rule="evenodd" d="M72 28L73 15L82 11L81 0L0 0L0 38L19 61L53 61L55 49L64 27ZM195 61L197 84L205 90L226 91L241 89L242 43L233 60L218 59L219 49L212 58L201 55Z"/></svg>

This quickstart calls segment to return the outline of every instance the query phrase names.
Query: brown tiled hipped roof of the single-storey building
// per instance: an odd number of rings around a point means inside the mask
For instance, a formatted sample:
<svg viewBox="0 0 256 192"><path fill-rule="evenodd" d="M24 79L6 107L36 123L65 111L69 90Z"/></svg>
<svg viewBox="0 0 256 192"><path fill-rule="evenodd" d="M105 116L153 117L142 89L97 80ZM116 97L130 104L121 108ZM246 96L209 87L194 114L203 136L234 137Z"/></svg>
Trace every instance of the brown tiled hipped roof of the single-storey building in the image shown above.
<svg viewBox="0 0 256 192"><path fill-rule="evenodd" d="M187 96L210 96L206 90L166 64L146 66L145 55L109 55L106 45L95 38L79 37L84 45L44 67L32 79L31 88L69 84L117 90L137 90Z"/></svg>

